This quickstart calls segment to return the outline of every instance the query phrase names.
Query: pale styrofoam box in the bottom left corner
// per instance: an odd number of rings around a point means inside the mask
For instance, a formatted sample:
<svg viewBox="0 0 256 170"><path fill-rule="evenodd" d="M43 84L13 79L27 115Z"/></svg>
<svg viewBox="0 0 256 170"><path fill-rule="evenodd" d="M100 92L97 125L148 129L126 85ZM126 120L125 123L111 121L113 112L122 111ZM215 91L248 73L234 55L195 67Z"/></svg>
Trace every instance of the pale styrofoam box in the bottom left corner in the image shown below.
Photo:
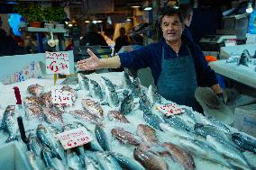
<svg viewBox="0 0 256 170"><path fill-rule="evenodd" d="M25 159L25 154L17 146L16 142L10 142L0 147L1 170L32 170Z"/></svg>

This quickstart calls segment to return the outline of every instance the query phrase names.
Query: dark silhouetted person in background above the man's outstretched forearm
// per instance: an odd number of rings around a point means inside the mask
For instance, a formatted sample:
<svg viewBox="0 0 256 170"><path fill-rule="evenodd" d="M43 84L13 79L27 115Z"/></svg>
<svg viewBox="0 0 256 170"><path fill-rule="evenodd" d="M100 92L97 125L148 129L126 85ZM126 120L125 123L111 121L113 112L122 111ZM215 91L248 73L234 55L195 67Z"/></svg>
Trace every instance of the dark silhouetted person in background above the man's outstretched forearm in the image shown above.
<svg viewBox="0 0 256 170"><path fill-rule="evenodd" d="M120 36L116 38L115 40L115 45L114 45L114 54L118 53L118 51L123 47L123 46L128 46L129 40L128 36L126 35L125 28L121 27L119 29Z"/></svg>

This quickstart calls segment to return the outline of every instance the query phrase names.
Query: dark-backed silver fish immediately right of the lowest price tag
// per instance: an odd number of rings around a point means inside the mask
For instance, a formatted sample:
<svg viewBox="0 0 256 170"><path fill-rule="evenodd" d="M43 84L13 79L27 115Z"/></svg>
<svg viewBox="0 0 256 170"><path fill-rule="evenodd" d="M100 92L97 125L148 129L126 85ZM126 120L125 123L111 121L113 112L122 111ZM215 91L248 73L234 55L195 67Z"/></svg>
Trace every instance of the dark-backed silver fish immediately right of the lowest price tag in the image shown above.
<svg viewBox="0 0 256 170"><path fill-rule="evenodd" d="M101 148L103 148L105 151L110 151L110 145L106 137L105 131L100 126L96 125L95 134Z"/></svg>

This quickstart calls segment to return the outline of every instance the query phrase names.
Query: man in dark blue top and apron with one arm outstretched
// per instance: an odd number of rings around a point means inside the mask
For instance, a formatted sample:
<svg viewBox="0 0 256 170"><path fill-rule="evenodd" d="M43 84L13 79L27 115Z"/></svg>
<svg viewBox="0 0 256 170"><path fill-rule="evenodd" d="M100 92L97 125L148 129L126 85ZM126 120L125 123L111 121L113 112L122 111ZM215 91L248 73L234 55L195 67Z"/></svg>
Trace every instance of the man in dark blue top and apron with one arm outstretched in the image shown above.
<svg viewBox="0 0 256 170"><path fill-rule="evenodd" d="M192 107L203 112L195 98L197 86L209 86L215 94L222 96L215 72L207 65L198 46L181 36L184 22L180 10L164 7L160 16L162 39L142 49L120 53L113 58L97 58L87 50L90 58L78 61L78 68L150 67L154 83L161 96L169 101Z"/></svg>

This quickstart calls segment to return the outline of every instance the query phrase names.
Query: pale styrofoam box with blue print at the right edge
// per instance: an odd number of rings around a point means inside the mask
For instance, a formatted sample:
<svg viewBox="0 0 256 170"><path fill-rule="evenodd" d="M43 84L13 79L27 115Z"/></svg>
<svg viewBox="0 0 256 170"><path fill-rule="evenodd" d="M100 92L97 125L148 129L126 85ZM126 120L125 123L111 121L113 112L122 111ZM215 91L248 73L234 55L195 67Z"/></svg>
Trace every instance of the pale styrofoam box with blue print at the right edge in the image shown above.
<svg viewBox="0 0 256 170"><path fill-rule="evenodd" d="M256 137L256 103L235 108L233 127Z"/></svg>

